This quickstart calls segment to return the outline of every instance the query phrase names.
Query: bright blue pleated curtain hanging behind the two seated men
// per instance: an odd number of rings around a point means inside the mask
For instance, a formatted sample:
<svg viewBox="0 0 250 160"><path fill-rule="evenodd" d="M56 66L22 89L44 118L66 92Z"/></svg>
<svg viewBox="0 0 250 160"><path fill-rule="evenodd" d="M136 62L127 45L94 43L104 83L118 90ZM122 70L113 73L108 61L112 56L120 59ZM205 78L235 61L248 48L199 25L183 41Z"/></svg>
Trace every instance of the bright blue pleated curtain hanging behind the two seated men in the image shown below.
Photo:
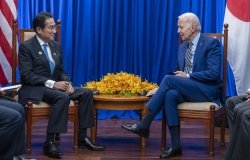
<svg viewBox="0 0 250 160"><path fill-rule="evenodd" d="M226 0L19 0L18 25L31 27L40 11L61 20L64 68L76 86L120 71L159 84L175 68L178 15L194 12L202 32L221 33L225 4ZM232 78L229 74L228 95L235 94ZM99 118L113 117L139 118L133 111L99 113Z"/></svg>

